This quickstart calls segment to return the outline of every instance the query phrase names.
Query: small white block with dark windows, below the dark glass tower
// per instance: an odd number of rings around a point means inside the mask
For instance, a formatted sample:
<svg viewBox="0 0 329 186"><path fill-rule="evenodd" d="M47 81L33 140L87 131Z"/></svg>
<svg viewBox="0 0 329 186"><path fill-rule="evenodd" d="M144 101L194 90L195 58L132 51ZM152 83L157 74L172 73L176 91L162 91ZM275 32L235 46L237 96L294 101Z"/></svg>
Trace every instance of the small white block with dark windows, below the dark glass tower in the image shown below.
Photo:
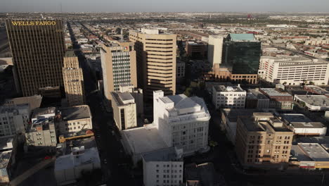
<svg viewBox="0 0 329 186"><path fill-rule="evenodd" d="M245 97L247 92L240 87L218 85L212 87L212 103L216 109L219 108L245 108Z"/></svg>

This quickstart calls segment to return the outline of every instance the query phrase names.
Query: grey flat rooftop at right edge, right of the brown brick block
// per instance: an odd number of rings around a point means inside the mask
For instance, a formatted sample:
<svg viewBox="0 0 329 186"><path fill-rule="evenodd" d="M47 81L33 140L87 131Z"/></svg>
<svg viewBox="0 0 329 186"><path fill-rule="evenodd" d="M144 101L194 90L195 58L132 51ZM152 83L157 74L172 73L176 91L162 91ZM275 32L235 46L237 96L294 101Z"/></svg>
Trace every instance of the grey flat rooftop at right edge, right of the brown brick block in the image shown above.
<svg viewBox="0 0 329 186"><path fill-rule="evenodd" d="M329 161L329 153L317 143L299 143L298 146L314 161Z"/></svg>

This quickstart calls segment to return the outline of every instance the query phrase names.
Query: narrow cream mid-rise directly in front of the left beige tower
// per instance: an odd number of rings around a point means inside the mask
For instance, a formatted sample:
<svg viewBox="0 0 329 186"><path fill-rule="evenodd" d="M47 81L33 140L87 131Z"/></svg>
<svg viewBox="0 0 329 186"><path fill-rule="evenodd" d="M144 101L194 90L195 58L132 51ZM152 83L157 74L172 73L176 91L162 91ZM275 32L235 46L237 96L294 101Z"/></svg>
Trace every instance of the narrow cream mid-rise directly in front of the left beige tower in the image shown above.
<svg viewBox="0 0 329 186"><path fill-rule="evenodd" d="M111 92L115 125L119 130L137 127L137 117L143 116L143 91L134 86L120 86L119 92Z"/></svg>

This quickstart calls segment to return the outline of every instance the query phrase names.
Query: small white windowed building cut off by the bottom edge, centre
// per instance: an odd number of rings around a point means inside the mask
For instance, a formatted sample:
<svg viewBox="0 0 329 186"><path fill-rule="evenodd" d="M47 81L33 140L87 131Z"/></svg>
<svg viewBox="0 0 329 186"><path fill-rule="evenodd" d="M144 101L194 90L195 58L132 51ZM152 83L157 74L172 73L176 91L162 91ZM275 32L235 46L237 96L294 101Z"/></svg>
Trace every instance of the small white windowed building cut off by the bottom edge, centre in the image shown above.
<svg viewBox="0 0 329 186"><path fill-rule="evenodd" d="M169 147L142 157L145 186L181 185L183 182L183 149Z"/></svg>

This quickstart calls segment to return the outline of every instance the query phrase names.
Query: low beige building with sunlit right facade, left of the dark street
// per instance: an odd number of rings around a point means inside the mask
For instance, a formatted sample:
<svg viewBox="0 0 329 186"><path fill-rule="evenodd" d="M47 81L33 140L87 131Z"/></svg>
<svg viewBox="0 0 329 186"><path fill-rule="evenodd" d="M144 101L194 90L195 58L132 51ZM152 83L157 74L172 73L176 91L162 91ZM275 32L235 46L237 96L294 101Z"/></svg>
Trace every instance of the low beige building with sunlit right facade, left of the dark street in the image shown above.
<svg viewBox="0 0 329 186"><path fill-rule="evenodd" d="M93 129L88 105L60 108L56 113L55 123L58 136Z"/></svg>

